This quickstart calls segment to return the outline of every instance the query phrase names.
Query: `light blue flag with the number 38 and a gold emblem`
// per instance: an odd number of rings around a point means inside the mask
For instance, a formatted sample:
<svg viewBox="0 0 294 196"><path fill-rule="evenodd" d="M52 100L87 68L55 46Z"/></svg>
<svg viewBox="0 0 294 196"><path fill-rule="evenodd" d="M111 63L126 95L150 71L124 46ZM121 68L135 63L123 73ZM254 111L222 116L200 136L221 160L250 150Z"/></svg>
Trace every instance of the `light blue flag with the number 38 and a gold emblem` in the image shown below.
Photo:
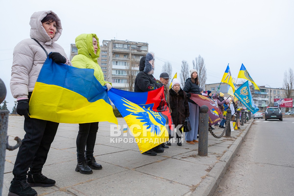
<svg viewBox="0 0 294 196"><path fill-rule="evenodd" d="M254 104L249 88L248 81L244 82L234 93L234 95L250 110L253 114L259 110Z"/></svg>

